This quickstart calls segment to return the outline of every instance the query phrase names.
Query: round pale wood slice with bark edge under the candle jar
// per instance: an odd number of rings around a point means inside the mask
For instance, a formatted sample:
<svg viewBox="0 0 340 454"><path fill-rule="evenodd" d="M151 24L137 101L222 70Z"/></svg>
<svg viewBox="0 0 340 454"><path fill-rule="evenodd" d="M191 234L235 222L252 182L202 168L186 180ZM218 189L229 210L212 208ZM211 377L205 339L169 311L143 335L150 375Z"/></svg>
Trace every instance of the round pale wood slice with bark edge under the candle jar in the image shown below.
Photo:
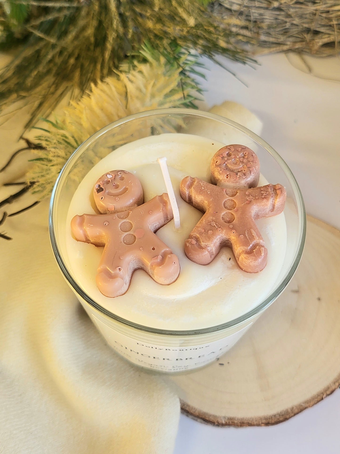
<svg viewBox="0 0 340 454"><path fill-rule="evenodd" d="M277 424L340 385L340 232L307 218L291 283L233 349L171 378L182 411L219 426Z"/></svg>

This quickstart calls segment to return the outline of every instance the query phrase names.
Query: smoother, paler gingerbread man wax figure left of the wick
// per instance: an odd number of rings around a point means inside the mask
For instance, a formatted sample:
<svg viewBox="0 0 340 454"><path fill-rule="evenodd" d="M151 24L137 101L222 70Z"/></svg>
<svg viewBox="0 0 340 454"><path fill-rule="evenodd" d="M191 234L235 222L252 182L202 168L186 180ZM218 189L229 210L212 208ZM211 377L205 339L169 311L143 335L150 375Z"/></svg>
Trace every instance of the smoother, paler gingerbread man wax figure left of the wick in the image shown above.
<svg viewBox="0 0 340 454"><path fill-rule="evenodd" d="M168 194L143 203L138 178L116 170L98 179L93 197L102 214L77 215L71 228L76 240L104 246L96 276L102 294L123 295L138 268L159 284L174 282L180 273L178 258L154 233L173 218Z"/></svg>

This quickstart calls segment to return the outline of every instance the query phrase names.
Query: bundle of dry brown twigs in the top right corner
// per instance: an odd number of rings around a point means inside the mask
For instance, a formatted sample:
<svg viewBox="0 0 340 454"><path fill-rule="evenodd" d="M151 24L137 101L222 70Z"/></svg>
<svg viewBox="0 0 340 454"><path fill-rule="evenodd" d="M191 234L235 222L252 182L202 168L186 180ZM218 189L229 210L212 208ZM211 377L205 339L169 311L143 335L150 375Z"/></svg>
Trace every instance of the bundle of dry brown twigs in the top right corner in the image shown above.
<svg viewBox="0 0 340 454"><path fill-rule="evenodd" d="M237 17L231 30L256 54L294 50L326 56L340 49L337 0L219 0L209 8L222 18Z"/></svg>

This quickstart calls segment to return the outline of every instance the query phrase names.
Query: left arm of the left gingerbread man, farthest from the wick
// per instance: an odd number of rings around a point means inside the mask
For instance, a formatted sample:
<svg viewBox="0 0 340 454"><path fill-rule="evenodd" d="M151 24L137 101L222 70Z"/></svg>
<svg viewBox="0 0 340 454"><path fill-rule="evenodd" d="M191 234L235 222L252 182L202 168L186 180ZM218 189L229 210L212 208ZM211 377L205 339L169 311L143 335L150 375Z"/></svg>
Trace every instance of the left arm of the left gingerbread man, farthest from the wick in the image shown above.
<svg viewBox="0 0 340 454"><path fill-rule="evenodd" d="M77 241L105 246L107 228L104 222L107 215L83 214L76 215L71 221L71 230Z"/></svg>

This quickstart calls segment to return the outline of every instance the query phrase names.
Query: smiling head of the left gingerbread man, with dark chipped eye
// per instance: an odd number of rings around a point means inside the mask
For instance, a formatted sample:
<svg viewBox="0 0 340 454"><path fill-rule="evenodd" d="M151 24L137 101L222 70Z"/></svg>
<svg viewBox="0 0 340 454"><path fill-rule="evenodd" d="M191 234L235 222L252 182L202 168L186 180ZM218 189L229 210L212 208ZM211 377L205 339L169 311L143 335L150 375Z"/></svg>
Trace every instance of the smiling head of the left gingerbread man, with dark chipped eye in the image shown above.
<svg viewBox="0 0 340 454"><path fill-rule="evenodd" d="M143 203L143 189L133 173L113 170L98 178L93 198L101 214L119 212Z"/></svg>

